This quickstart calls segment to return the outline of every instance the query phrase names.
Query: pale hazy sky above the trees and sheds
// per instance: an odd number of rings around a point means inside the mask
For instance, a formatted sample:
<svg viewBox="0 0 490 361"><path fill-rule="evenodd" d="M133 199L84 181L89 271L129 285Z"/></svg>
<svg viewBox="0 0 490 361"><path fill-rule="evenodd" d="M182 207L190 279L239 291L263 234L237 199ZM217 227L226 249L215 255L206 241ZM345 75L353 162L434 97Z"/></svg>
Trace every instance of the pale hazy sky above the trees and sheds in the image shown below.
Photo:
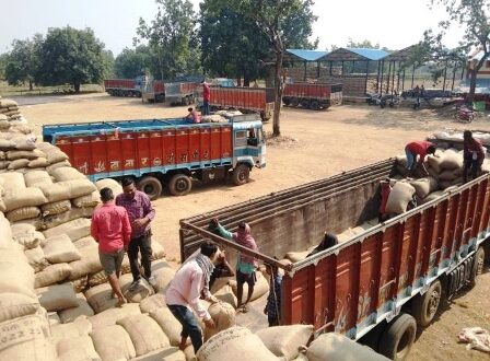
<svg viewBox="0 0 490 361"><path fill-rule="evenodd" d="M200 0L191 0L198 11ZM346 46L349 38L378 43L388 49L402 49L418 43L427 28L436 28L445 18L440 9L429 9L429 0L316 0L313 12L318 20L313 26L313 38L318 48ZM70 25L91 27L95 35L117 56L125 47L132 47L132 38L140 18L151 21L156 13L154 0L0 0L0 9L8 9L0 21L0 54L11 49L12 40L46 34L48 27ZM454 47L462 31L454 27L445 45Z"/></svg>

